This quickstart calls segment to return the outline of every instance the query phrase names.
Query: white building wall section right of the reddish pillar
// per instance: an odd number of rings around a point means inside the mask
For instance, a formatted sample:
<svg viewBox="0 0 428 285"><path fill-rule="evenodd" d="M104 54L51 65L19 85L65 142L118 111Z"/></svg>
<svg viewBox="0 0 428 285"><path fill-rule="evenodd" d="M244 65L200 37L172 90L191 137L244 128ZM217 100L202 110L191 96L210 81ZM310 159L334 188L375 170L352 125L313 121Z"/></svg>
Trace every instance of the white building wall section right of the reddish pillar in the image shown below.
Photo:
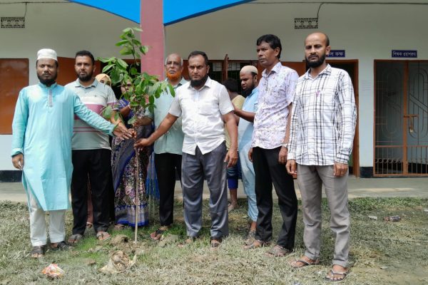
<svg viewBox="0 0 428 285"><path fill-rule="evenodd" d="M296 30L295 18L317 15L319 4L243 4L167 26L166 53L187 56L205 51L210 59L255 60L255 41L265 33L281 38L283 61L302 61L305 37L315 30ZM426 1L420 1L423 3ZM332 49L359 61L360 166L373 165L374 59L390 59L392 49L418 51L428 59L427 5L325 4L319 31L330 36Z"/></svg>

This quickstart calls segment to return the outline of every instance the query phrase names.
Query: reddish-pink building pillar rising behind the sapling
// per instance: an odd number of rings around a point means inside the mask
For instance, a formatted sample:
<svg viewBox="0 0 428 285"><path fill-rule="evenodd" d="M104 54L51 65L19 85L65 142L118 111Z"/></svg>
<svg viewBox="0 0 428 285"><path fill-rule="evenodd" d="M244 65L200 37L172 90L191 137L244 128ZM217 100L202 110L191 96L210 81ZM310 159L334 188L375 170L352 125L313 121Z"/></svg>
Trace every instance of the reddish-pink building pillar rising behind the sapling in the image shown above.
<svg viewBox="0 0 428 285"><path fill-rule="evenodd" d="M141 43L149 46L146 56L141 56L141 71L163 80L165 35L163 27L163 0L141 0L140 23L143 32Z"/></svg>

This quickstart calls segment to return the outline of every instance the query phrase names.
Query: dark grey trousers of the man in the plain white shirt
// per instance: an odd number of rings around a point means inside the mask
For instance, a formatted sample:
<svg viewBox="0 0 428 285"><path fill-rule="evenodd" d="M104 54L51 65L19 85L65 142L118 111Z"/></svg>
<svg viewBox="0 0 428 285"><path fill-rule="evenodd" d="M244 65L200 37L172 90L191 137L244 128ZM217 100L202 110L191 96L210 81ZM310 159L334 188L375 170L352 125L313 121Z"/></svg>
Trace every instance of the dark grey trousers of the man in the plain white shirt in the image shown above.
<svg viewBox="0 0 428 285"><path fill-rule="evenodd" d="M196 147L195 155L183 153L181 179L184 221L189 237L197 237L202 228L204 175L210 190L211 237L219 239L229 234L225 155L225 142L205 155L199 147Z"/></svg>

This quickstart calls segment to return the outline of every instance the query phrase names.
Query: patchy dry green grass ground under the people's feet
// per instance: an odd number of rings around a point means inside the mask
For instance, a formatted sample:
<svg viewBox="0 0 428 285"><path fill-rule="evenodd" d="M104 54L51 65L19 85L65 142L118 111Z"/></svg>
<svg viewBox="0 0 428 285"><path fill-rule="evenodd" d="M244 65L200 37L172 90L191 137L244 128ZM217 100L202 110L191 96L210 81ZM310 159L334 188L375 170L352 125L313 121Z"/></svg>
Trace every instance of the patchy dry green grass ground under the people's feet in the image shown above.
<svg viewBox="0 0 428 285"><path fill-rule="evenodd" d="M92 230L68 252L46 253L43 259L28 257L29 214L26 204L0 202L0 284L328 284L323 281L330 269L334 237L328 222L330 214L323 200L321 264L292 270L290 259L305 252L302 242L302 213L299 210L295 252L290 257L265 257L267 249L245 251L243 241L248 230L246 201L229 216L230 236L220 249L210 250L208 202L203 205L203 229L194 244L180 248L185 239L183 204L175 204L175 224L168 234L178 242L159 247L149 236L158 225L157 207L151 209L151 225L138 229L138 244L133 244L133 229L113 231L112 236L126 234L127 244L98 242ZM153 205L153 204L152 204ZM351 274L343 284L428 284L428 199L363 198L350 200ZM299 206L300 209L300 206ZM384 222L390 215L400 222ZM376 216L377 220L368 216ZM66 228L70 234L71 212ZM272 224L274 239L282 219L275 205ZM165 236L167 236L166 234ZM138 261L132 269L115 275L98 270L107 264L109 255L122 249ZM64 271L61 280L50 281L41 270L57 263ZM95 262L95 263L94 263Z"/></svg>

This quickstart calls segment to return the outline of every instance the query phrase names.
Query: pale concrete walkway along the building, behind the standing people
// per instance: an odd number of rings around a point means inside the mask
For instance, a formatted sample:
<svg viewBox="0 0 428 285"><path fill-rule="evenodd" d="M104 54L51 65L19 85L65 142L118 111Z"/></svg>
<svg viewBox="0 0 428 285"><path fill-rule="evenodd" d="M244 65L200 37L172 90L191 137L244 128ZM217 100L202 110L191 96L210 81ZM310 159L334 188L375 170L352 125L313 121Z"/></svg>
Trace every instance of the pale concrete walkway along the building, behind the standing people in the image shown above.
<svg viewBox="0 0 428 285"><path fill-rule="evenodd" d="M412 178L349 178L349 197L423 197L428 198L428 177ZM295 181L297 197L300 197L299 187ZM209 192L205 182L204 199ZM242 183L239 183L238 197L245 198ZM276 198L276 196L274 195ZM175 186L175 199L182 199L181 187ZM26 202L26 193L21 183L0 182L0 201Z"/></svg>

